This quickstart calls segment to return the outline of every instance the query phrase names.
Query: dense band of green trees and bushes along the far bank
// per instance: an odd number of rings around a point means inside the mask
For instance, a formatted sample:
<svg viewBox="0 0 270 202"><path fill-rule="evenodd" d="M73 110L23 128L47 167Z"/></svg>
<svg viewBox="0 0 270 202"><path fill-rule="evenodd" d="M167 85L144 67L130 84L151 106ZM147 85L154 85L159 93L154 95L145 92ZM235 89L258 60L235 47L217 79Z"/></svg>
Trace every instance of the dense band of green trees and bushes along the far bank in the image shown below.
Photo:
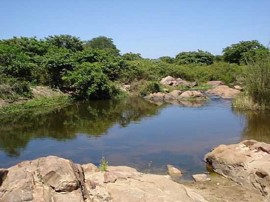
<svg viewBox="0 0 270 202"><path fill-rule="evenodd" d="M130 85L134 95L145 96L162 91L159 81L169 75L197 81L199 87L193 89L202 90L209 88L205 86L209 80L227 84L246 80L246 95L267 105L268 65L261 61L269 54L268 48L253 40L233 44L223 55L198 50L145 59L139 53L121 55L105 36L88 41L71 35L13 37L0 40L0 99L10 103L31 99L29 87L34 85L69 92L78 99L123 97L126 93L120 87L124 85ZM259 78L263 83L258 83Z"/></svg>

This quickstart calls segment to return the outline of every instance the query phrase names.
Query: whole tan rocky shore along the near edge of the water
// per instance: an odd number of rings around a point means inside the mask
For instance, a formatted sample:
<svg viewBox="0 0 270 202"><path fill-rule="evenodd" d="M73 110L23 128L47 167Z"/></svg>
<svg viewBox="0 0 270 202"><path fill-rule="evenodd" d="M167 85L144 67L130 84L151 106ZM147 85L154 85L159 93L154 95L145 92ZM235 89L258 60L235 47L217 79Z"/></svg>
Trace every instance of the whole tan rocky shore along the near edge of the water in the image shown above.
<svg viewBox="0 0 270 202"><path fill-rule="evenodd" d="M174 179L182 172L167 165L168 176L126 166L75 164L56 156L0 169L0 202L269 202L270 144L245 140L220 145L205 155L219 175Z"/></svg>

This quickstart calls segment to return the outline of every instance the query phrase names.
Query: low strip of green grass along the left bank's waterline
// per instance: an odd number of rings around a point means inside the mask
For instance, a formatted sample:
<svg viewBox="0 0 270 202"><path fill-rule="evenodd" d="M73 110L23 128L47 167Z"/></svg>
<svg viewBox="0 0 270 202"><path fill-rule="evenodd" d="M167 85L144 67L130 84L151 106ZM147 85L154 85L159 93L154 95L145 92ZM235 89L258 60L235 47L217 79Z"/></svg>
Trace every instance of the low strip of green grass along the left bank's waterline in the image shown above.
<svg viewBox="0 0 270 202"><path fill-rule="evenodd" d="M0 115L18 114L29 109L68 103L72 100L73 99L68 96L57 96L52 98L33 99L22 103L13 103L0 108Z"/></svg>

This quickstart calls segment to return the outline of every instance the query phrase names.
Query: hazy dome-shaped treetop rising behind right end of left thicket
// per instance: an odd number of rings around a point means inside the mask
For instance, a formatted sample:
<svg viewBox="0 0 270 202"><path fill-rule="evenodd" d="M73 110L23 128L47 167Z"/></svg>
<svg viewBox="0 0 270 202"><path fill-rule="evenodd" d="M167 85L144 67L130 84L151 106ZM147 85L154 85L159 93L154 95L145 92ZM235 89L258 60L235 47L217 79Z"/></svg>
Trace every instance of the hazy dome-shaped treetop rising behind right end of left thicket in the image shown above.
<svg viewBox="0 0 270 202"><path fill-rule="evenodd" d="M106 36L95 37L85 43L86 48L92 49L109 49L113 51L116 55L119 54L119 50L113 44L113 39Z"/></svg>

